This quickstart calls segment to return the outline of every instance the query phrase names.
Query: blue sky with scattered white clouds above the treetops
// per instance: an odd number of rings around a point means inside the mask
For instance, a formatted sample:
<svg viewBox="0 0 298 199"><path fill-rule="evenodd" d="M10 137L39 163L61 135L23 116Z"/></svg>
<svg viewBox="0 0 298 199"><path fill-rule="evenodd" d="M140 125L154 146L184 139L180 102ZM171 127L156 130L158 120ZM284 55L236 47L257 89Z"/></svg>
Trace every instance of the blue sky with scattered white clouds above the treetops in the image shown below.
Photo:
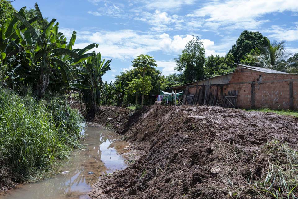
<svg viewBox="0 0 298 199"><path fill-rule="evenodd" d="M59 22L59 31L75 48L97 43L96 52L112 59L103 80L115 81L132 68L140 54L154 56L163 75L177 73L174 58L192 35L204 44L205 57L224 56L243 30L259 31L270 40L285 40L298 52L297 0L15 0L16 10L34 8Z"/></svg>

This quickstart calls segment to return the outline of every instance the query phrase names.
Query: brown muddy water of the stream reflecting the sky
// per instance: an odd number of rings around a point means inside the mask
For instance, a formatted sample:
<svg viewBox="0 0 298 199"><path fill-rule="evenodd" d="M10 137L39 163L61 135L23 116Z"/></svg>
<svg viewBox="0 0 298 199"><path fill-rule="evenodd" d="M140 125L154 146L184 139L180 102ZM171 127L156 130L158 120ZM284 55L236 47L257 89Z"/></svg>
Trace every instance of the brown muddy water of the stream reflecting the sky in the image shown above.
<svg viewBox="0 0 298 199"><path fill-rule="evenodd" d="M57 174L40 183L28 183L17 186L16 189L0 195L0 199L87 199L91 185L102 175L115 170L124 169L124 149L127 142L121 137L102 127L92 127L89 124L85 134L88 134L82 144L86 150L72 153L70 161L61 166L60 171L68 174ZM88 175L92 171L94 174Z"/></svg>

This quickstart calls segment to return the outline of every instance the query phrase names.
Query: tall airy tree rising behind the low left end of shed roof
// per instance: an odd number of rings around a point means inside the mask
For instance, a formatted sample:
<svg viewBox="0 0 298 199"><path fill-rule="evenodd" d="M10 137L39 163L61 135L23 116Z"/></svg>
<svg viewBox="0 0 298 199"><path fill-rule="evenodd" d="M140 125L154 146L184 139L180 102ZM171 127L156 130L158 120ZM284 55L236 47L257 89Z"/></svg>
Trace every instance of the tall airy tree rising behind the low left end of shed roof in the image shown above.
<svg viewBox="0 0 298 199"><path fill-rule="evenodd" d="M177 71L183 71L184 83L190 83L204 78L205 49L199 37L193 37L185 45L182 54L178 55L178 58L174 60L177 64L175 69Z"/></svg>

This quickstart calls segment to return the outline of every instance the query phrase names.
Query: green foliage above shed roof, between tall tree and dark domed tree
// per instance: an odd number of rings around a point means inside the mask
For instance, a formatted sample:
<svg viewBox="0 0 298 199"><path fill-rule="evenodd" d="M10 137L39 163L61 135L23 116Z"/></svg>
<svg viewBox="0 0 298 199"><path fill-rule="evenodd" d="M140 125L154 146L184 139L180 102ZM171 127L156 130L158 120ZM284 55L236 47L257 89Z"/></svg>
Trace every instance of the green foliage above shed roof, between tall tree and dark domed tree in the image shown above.
<svg viewBox="0 0 298 199"><path fill-rule="evenodd" d="M231 53L228 53L225 57L216 55L209 56L205 63L205 77L213 77L218 75L224 75L234 71L234 57Z"/></svg>

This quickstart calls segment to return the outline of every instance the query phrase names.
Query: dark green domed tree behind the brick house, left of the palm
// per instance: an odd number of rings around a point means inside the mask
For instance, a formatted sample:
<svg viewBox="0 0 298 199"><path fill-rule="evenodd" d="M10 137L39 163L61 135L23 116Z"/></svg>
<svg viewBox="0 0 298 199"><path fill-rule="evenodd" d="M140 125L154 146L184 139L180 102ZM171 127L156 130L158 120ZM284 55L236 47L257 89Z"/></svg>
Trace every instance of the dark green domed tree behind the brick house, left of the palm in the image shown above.
<svg viewBox="0 0 298 199"><path fill-rule="evenodd" d="M234 56L235 63L240 63L240 60L251 52L251 49L258 47L258 45L266 45L267 37L264 37L260 32L251 32L244 30L229 51Z"/></svg>

